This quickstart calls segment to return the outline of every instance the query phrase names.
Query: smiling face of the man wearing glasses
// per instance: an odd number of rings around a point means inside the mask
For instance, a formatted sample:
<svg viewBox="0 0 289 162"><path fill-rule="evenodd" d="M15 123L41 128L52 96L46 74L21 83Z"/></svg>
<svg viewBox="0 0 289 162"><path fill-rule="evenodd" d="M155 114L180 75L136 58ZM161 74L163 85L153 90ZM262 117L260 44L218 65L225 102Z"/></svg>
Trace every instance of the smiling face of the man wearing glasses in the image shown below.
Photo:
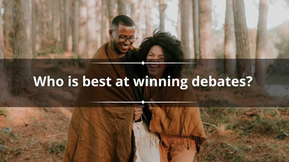
<svg viewBox="0 0 289 162"><path fill-rule="evenodd" d="M130 43L129 39L127 39L125 42L119 42L118 36L133 38L135 37L136 27L135 26L127 27L127 26L119 24L118 29L114 29L114 31L109 30L109 34L110 34L110 37L112 38L113 46L114 48L116 48L118 53L125 54L133 43Z"/></svg>

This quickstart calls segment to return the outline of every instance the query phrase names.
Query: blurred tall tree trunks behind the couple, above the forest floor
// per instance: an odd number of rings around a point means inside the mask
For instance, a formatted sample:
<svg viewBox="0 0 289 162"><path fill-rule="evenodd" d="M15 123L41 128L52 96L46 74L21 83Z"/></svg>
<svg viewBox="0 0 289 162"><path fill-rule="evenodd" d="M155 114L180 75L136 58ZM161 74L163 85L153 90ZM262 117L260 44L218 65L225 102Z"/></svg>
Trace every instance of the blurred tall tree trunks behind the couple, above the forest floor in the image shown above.
<svg viewBox="0 0 289 162"><path fill-rule="evenodd" d="M288 19L270 30L266 27L270 5L281 2L288 5L288 0L254 0L256 8L260 10L255 29L247 29L248 15L245 15L244 2L248 1L244 0L222 1L226 2L226 6L223 8L223 27L219 28L216 26L220 20L220 8L217 10L214 4L220 1L216 0L0 2L0 42L6 58L42 56L89 59L102 44L110 40L108 29L118 14L126 14L135 21L138 41L134 46L138 47L145 37L151 36L154 29L174 30L173 34L183 43L186 58L225 58L226 74L244 77L255 73L261 86L264 85L264 71L268 63L252 60L234 62L227 59L289 58ZM175 17L171 12L175 13ZM166 26L167 22L171 26ZM58 55L45 56L48 53ZM204 65L207 69L216 68L213 62ZM25 77L25 72L17 72L16 69L14 74L15 77L20 74ZM18 79L21 81L14 80L15 86L26 82L21 77Z"/></svg>

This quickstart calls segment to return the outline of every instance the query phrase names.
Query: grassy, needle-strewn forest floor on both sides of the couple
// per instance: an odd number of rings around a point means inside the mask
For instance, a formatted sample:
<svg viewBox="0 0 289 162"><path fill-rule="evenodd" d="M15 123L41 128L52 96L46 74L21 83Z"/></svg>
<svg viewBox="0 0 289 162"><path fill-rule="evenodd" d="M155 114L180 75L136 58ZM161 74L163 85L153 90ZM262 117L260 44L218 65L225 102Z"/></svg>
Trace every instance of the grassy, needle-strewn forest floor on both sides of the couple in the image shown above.
<svg viewBox="0 0 289 162"><path fill-rule="evenodd" d="M71 53L37 54L37 58L52 56L70 58ZM226 89L205 93L197 89L195 94L197 98L237 96L244 99L241 92ZM218 101L228 99L224 97ZM264 102L271 99L257 92L247 97ZM19 98L12 96L11 99ZM0 161L61 161L72 110L0 108ZM200 112L210 145L205 161L289 161L289 108L211 107L200 108Z"/></svg>

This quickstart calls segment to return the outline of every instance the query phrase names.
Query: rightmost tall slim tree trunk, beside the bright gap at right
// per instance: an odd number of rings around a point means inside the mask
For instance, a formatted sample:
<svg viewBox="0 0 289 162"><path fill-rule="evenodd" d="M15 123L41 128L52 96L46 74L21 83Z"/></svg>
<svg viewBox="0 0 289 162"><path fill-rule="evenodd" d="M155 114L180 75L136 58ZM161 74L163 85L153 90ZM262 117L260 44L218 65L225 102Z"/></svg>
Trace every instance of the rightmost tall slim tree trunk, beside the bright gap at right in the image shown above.
<svg viewBox="0 0 289 162"><path fill-rule="evenodd" d="M269 0L260 0L259 21L256 42L255 78L257 83L264 87L266 75L266 44L267 44L267 16Z"/></svg>

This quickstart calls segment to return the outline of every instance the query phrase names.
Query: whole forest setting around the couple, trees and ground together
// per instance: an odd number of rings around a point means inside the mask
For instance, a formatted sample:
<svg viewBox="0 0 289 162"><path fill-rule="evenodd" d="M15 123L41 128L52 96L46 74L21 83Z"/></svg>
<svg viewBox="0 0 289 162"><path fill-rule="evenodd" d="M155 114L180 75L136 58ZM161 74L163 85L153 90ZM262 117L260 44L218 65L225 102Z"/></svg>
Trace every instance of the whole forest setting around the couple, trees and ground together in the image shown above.
<svg viewBox="0 0 289 162"><path fill-rule="evenodd" d="M155 29L181 40L186 59L200 59L184 69L189 78L212 71L221 78L254 77L245 90L196 88L196 98L206 103L200 107L210 145L205 161L289 161L289 109L282 106L289 102L289 17L270 29L267 24L270 7L281 4L288 12L289 0L252 0L255 28L248 27L249 1L222 0L220 21L221 0L0 0L0 161L62 160L73 106L60 105L71 103L78 90L40 92L29 86L29 76L80 75L84 67L51 61L33 68L23 59L90 59L110 41L112 19L120 14L136 24L136 48ZM223 60L221 72L217 59ZM29 105L37 97L45 99L40 107L9 105ZM227 106L249 100L280 106Z"/></svg>

